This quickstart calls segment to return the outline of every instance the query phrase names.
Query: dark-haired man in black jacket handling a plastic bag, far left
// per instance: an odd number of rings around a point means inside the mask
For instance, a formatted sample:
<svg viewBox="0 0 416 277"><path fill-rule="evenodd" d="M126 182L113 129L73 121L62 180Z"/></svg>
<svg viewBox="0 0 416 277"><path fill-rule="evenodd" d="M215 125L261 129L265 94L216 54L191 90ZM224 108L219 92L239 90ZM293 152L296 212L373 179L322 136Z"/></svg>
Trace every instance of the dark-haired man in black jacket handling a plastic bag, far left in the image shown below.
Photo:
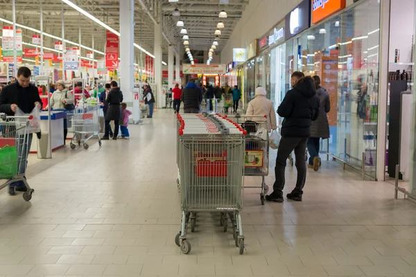
<svg viewBox="0 0 416 277"><path fill-rule="evenodd" d="M42 109L42 101L39 97L37 87L33 86L31 82L31 69L26 66L19 67L17 71L17 82L9 84L3 88L0 94L0 112L8 116L14 116L17 108L21 109L25 114L30 114L31 111L37 107ZM25 157L21 157L19 164L19 174L24 174L27 166L28 154L31 150L33 134L28 134L27 144L23 143L24 138L19 137L17 141L17 152L23 152ZM37 138L40 139L40 133L37 133ZM19 149L22 148L23 149ZM26 177L24 177L26 179ZM27 191L26 185L23 181L17 181L9 186L9 194L15 195L16 191Z"/></svg>

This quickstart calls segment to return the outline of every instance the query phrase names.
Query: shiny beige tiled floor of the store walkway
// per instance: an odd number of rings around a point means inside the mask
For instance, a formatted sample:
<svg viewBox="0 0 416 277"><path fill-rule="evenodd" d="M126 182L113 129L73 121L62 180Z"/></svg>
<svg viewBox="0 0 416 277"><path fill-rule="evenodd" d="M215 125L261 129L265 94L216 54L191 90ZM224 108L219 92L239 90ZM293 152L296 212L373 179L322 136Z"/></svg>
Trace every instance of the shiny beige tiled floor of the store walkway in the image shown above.
<svg viewBox="0 0 416 277"><path fill-rule="evenodd" d="M31 157L33 200L0 194L0 276L416 276L416 204L332 161L309 172L302 203L261 206L245 190L243 256L216 215L198 218L181 255L174 118L157 111L130 141Z"/></svg>

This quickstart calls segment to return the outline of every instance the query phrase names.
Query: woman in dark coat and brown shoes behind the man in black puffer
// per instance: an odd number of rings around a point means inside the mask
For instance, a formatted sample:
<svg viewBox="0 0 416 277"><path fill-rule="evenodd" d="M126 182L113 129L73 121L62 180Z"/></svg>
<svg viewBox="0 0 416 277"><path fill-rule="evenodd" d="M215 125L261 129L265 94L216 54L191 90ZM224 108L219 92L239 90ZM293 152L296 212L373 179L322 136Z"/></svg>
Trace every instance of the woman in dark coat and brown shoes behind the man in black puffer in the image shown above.
<svg viewBox="0 0 416 277"><path fill-rule="evenodd" d="M320 167L319 143L320 139L329 139L329 123L327 113L331 109L329 101L329 93L320 86L320 78L318 75L313 76L315 81L316 95L320 100L320 110L318 119L312 122L311 136L308 139L309 163L308 167L318 171Z"/></svg>

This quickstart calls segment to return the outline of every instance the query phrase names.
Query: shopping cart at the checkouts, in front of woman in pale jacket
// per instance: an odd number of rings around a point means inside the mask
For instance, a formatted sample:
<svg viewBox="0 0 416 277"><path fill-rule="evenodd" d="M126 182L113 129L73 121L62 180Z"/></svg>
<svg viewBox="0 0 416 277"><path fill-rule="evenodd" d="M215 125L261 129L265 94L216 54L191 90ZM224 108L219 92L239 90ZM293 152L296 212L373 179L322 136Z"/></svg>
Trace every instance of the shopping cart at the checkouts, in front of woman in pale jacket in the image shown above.
<svg viewBox="0 0 416 277"><path fill-rule="evenodd" d="M101 146L100 132L100 105L98 103L78 102L76 109L67 113L68 132L73 133L71 149L76 148L76 143L83 143L87 150L87 141L94 136L98 138L98 145Z"/></svg>

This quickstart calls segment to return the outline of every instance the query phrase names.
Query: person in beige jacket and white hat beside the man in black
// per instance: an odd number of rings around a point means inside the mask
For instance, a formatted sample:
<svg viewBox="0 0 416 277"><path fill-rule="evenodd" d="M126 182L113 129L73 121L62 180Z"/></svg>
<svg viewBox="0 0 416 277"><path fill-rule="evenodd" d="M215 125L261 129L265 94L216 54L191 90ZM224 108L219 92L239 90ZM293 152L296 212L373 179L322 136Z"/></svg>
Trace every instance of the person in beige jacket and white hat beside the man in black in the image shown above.
<svg viewBox="0 0 416 277"><path fill-rule="evenodd" d="M277 129L276 113L273 107L272 100L266 98L266 89L258 87L256 89L256 96L248 103L247 120L252 120L250 116L265 116L267 115L267 129L270 132L272 129ZM255 121L255 120L254 120ZM264 122L264 121L263 121ZM266 126L261 126L266 127Z"/></svg>

